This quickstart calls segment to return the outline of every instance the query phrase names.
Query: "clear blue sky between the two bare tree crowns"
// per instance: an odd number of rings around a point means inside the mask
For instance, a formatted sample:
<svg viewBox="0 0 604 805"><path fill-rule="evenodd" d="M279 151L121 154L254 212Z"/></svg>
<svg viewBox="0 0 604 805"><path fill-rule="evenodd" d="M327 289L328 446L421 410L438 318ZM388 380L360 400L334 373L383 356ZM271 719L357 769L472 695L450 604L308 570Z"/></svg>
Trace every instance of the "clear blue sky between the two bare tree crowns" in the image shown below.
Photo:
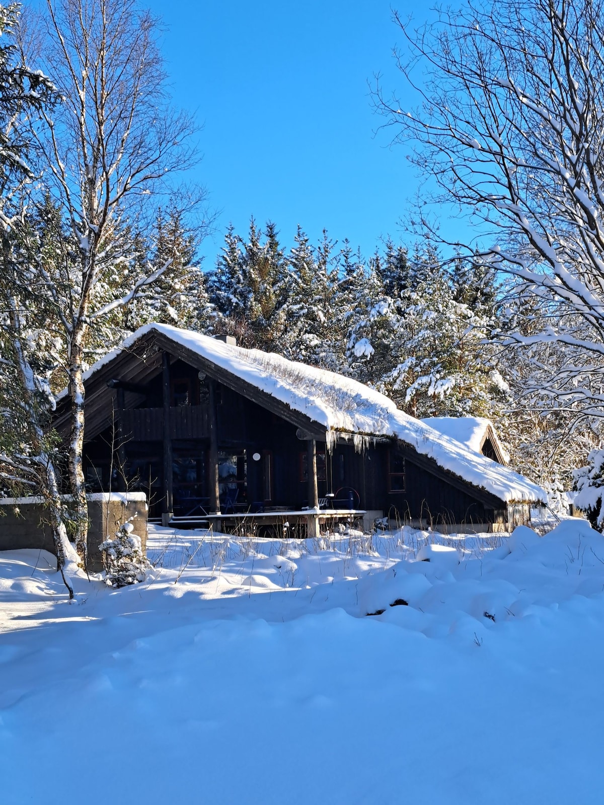
<svg viewBox="0 0 604 805"><path fill-rule="evenodd" d="M406 16L424 10L404 0ZM215 261L232 221L275 221L291 245L300 223L313 241L326 227L371 254L380 237L408 241L399 225L419 186L402 147L374 135L374 72L401 89L392 47L402 43L385 0L153 0L166 26L172 95L203 123L195 180L221 211L202 246Z"/></svg>

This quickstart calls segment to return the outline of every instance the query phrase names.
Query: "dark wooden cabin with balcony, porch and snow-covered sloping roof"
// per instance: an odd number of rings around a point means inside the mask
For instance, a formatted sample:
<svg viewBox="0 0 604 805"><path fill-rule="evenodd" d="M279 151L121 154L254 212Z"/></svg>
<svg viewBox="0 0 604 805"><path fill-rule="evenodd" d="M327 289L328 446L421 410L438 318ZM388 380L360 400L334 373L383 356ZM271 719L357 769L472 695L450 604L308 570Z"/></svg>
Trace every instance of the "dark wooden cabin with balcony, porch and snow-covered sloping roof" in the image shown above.
<svg viewBox="0 0 604 805"><path fill-rule="evenodd" d="M91 492L139 490L164 524L232 527L365 515L500 529L544 493L388 398L332 372L169 325L141 328L85 376ZM69 428L67 394L55 426Z"/></svg>

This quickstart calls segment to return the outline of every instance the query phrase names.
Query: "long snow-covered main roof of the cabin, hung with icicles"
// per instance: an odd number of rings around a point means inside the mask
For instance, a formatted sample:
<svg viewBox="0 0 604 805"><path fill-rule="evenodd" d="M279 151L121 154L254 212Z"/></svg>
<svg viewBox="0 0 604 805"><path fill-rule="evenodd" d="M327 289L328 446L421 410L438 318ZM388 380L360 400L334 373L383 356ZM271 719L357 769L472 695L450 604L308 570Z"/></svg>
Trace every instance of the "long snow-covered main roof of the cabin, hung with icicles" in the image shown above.
<svg viewBox="0 0 604 805"><path fill-rule="evenodd" d="M399 411L391 399L356 380L326 369L288 361L275 353L225 344L200 332L181 330L170 324L147 324L139 328L97 361L85 373L85 380L152 332L161 333L206 361L270 394L293 411L308 416L325 428L328 444L333 443L337 431L352 434L358 443L371 436L395 437L411 445L421 455L436 461L442 469L486 489L503 501L545 502L547 499L544 490L527 478L480 455L420 419Z"/></svg>

